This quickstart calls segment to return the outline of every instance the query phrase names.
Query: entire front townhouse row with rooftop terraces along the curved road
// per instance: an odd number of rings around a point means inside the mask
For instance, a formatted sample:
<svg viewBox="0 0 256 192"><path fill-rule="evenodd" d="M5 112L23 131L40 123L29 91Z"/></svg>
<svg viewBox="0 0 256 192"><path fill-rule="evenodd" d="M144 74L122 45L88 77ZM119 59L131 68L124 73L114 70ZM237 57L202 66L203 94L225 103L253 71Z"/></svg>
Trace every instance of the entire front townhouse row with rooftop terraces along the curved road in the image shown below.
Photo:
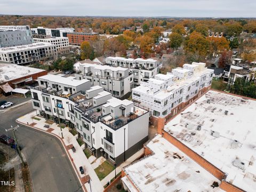
<svg viewBox="0 0 256 192"><path fill-rule="evenodd" d="M132 101L71 76L45 75L38 84L31 89L33 108L46 119L75 128L94 156L119 165L147 141L149 113Z"/></svg>

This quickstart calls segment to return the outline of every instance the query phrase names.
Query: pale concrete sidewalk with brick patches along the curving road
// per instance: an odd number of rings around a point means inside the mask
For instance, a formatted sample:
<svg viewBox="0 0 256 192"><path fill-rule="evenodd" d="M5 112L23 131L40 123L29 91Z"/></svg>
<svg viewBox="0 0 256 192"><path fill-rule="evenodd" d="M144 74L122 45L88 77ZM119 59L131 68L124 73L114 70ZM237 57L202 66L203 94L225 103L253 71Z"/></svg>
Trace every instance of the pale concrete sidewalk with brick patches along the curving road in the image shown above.
<svg viewBox="0 0 256 192"><path fill-rule="evenodd" d="M81 185L83 185L85 182L85 188L83 187L83 189L85 191L92 191L92 192L101 192L104 190L102 183L100 182L97 174L95 173L95 171L93 170L91 163L89 162L89 160L86 158L84 151L82 149L82 147L80 147L78 145L78 142L76 141L76 136L74 136L73 134L71 134L68 130L67 127L65 127L64 129L62 129L62 133L63 133L63 139L61 139L61 131L60 131L60 127L58 127L58 124L53 123L50 125L50 128L47 129L46 127L44 127L45 123L45 119L42 117L38 117L40 120L36 120L36 119L31 119L32 116L36 116L36 112L33 111L30 114L27 114L25 116L22 116L20 118L17 119L17 122L22 123L26 126L30 126L33 127L34 129L38 129L44 132L47 132L49 134L54 135L55 137L57 137L58 139L61 140L62 145L65 147L65 150L69 156L69 159L73 165L73 168L75 169L75 172L77 174L77 177L79 178ZM27 125L27 123L29 125ZM74 146L76 149L76 152L73 153L71 146ZM79 167L82 166L84 168L85 174L81 174L81 172L79 171ZM87 182L87 178L85 175L90 175L91 178L91 189L90 189L90 185Z"/></svg>

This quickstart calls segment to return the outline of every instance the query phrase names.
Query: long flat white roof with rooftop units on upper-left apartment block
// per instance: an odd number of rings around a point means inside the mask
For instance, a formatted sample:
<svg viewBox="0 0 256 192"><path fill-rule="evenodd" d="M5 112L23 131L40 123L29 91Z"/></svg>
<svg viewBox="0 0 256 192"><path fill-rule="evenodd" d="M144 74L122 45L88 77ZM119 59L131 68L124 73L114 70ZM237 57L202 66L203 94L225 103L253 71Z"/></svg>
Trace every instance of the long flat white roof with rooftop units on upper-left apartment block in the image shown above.
<svg viewBox="0 0 256 192"><path fill-rule="evenodd" d="M51 43L32 43L29 45L19 45L19 46L13 46L13 47L2 47L0 48L0 52L3 53L10 53L10 52L17 52L17 51L27 51L27 50L34 50L42 47L49 47L49 46L55 46Z"/></svg>

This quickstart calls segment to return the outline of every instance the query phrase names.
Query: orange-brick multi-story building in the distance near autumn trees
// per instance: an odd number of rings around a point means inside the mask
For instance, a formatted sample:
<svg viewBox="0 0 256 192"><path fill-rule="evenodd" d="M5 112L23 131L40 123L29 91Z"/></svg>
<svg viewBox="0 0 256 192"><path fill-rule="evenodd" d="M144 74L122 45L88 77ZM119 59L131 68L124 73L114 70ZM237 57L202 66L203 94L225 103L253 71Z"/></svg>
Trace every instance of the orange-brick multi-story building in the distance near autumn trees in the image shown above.
<svg viewBox="0 0 256 192"><path fill-rule="evenodd" d="M98 33L67 33L69 44L81 45L84 41L90 41Z"/></svg>

